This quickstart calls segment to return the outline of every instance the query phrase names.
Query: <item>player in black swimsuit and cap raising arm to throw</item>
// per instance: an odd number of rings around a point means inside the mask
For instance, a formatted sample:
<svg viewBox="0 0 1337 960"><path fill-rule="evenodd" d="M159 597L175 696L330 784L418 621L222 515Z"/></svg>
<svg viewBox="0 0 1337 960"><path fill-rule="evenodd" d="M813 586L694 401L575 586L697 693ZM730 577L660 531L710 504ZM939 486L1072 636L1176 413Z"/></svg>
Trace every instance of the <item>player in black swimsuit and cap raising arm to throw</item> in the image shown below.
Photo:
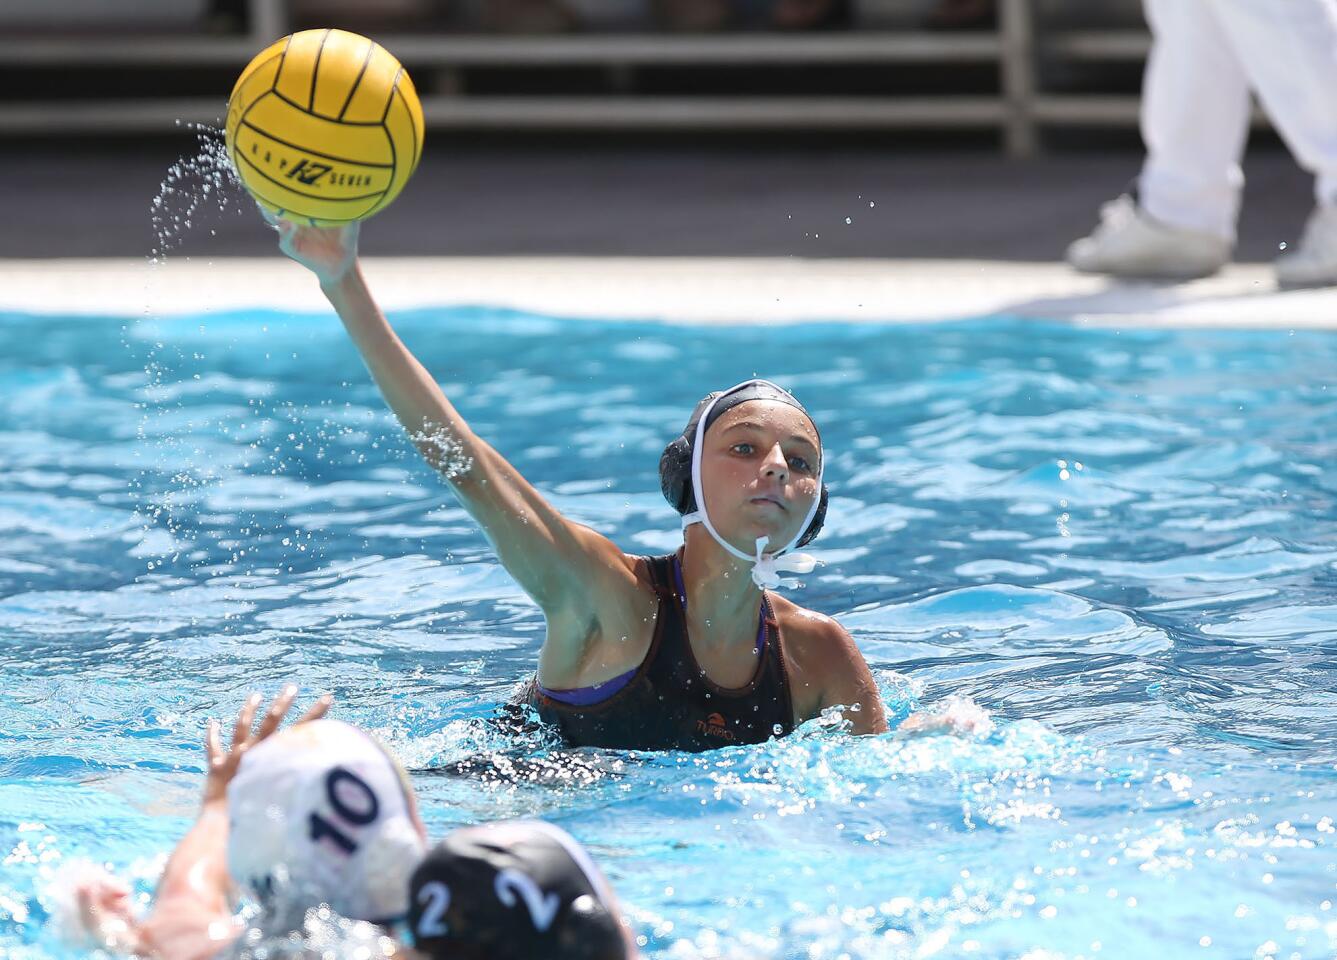
<svg viewBox="0 0 1337 960"><path fill-rule="evenodd" d="M400 423L441 471L547 620L527 697L572 745L701 750L767 739L829 707L881 733L877 686L834 620L774 592L825 513L816 424L786 390L747 381L706 397L660 461L683 513L673 558L623 554L562 516L477 437L376 306L357 225L277 223ZM709 505L709 509L707 509ZM778 550L775 544L785 544Z"/></svg>

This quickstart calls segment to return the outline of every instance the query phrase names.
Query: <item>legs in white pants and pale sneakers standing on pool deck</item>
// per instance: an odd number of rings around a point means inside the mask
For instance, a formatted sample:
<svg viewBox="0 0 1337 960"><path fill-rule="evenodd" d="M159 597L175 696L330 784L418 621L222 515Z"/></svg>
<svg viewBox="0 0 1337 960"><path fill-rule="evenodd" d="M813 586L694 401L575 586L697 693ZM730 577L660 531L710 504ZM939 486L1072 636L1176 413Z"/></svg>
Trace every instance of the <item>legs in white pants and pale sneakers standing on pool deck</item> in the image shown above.
<svg viewBox="0 0 1337 960"><path fill-rule="evenodd" d="M1111 205L1068 247L1080 270L1201 277L1235 238L1253 88L1316 211L1284 283L1337 283L1337 0L1143 0L1154 43L1142 88L1139 198Z"/></svg>

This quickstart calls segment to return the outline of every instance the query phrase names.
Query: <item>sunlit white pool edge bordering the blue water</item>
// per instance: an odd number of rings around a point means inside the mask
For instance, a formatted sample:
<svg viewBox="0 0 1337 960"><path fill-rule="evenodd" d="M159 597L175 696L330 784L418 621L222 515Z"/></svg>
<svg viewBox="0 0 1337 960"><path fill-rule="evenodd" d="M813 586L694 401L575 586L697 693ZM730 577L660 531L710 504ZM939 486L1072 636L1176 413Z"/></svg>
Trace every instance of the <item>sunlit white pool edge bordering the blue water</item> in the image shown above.
<svg viewBox="0 0 1337 960"><path fill-rule="evenodd" d="M1062 263L1001 261L421 257L364 259L386 310L487 305L678 324L941 322L996 314L1130 328L1337 329L1337 289L1278 290L1234 265L1189 283L1112 283ZM301 267L271 258L0 259L0 312L174 317L325 312Z"/></svg>

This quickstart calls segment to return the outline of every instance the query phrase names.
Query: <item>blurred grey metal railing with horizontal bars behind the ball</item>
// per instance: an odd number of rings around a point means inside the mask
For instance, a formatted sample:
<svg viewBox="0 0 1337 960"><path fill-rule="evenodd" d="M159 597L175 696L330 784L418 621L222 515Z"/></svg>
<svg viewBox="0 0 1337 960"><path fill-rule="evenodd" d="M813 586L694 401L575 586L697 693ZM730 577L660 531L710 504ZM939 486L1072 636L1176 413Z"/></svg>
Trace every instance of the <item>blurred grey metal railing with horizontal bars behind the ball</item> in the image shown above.
<svg viewBox="0 0 1337 960"><path fill-rule="evenodd" d="M52 36L0 39L8 68L124 67L138 71L227 67L289 32L287 0L249 0L249 36ZM437 128L584 130L876 130L993 128L1008 154L1028 156L1039 131L1059 126L1126 126L1136 122L1135 96L1048 94L1040 57L1068 62L1136 62L1148 39L1140 31L1038 31L1032 0L999 0L993 31L971 33L868 32L733 35L378 36L417 76L437 90L460 90L455 71L476 67L639 67L783 64L995 64L996 94L933 96L737 96L737 95L472 95L427 92L427 122ZM424 84L418 84L420 88ZM218 98L47 99L0 102L0 136L32 134L147 134L174 122L217 122Z"/></svg>

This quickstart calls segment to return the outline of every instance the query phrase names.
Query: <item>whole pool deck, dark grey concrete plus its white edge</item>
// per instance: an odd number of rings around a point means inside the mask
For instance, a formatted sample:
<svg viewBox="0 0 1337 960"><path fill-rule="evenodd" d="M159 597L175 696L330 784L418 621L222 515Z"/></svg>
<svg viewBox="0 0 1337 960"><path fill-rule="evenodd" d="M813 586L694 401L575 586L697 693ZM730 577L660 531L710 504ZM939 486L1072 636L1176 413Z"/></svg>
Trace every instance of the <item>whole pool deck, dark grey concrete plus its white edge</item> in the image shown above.
<svg viewBox="0 0 1337 960"><path fill-rule="evenodd" d="M1296 242L1313 202L1277 144L1245 163L1242 262L1191 283L1114 283L1058 262L1136 172L1135 146L1024 163L894 144L432 146L405 195L364 230L366 271L390 310L1337 328L1337 289L1278 290L1266 263ZM326 310L249 209L195 211L166 263L147 262L150 202L193 148L100 144L94 160L71 144L0 148L12 226L0 231L0 310Z"/></svg>

